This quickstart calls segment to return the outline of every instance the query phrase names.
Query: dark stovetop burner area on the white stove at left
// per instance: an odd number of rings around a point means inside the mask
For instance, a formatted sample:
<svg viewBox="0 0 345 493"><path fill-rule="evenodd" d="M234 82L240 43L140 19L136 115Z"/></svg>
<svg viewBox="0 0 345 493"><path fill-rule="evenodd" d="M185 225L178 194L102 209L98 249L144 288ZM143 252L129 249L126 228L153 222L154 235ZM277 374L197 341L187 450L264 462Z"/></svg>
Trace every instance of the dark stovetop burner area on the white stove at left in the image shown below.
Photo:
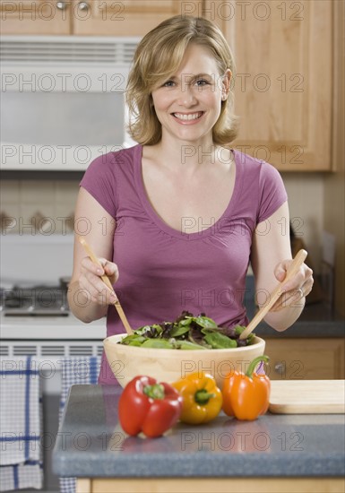
<svg viewBox="0 0 345 493"><path fill-rule="evenodd" d="M67 316L67 291L62 286L13 286L0 289L4 316Z"/></svg>

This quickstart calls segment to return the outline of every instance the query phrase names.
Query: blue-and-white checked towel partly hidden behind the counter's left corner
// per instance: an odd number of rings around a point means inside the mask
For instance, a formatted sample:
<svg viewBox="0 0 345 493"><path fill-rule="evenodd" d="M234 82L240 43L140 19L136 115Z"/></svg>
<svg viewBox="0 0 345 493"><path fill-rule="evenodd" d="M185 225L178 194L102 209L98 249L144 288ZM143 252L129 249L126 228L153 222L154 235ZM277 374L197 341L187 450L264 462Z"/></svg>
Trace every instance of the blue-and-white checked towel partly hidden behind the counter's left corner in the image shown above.
<svg viewBox="0 0 345 493"><path fill-rule="evenodd" d="M68 358L61 362L62 388L60 398L60 422L65 402L72 385L97 384L99 378L100 357ZM60 478L60 493L75 493L75 478Z"/></svg>

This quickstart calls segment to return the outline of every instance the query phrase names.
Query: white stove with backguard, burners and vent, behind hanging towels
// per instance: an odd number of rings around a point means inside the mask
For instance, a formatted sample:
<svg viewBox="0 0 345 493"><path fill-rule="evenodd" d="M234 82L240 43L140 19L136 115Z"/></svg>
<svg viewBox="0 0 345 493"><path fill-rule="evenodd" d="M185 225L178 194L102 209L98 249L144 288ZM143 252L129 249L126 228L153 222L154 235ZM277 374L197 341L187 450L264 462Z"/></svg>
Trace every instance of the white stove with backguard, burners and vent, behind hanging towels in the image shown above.
<svg viewBox="0 0 345 493"><path fill-rule="evenodd" d="M9 234L3 235L0 242L0 363L4 368L13 368L13 361L24 365L30 356L32 365L39 369L42 438L47 437L47 443L45 438L39 443L43 445L44 473L48 478L51 444L55 443L61 411L62 362L69 362L73 375L79 379L76 383L86 383L83 376L89 367L83 362L101 356L107 335L106 318L84 324L68 307L72 235ZM57 491L57 478L52 482L54 487L49 490Z"/></svg>

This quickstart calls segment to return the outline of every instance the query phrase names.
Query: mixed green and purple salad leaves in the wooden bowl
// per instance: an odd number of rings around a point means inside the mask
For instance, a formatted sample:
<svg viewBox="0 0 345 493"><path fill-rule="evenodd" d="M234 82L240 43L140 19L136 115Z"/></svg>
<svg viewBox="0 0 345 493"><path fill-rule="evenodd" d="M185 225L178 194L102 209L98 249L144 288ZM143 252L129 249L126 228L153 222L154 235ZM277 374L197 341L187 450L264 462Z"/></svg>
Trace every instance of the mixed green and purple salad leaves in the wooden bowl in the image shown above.
<svg viewBox="0 0 345 493"><path fill-rule="evenodd" d="M221 327L204 314L193 316L184 311L174 322L144 325L118 343L168 350L223 350L252 344L254 333L245 340L239 339L245 328Z"/></svg>

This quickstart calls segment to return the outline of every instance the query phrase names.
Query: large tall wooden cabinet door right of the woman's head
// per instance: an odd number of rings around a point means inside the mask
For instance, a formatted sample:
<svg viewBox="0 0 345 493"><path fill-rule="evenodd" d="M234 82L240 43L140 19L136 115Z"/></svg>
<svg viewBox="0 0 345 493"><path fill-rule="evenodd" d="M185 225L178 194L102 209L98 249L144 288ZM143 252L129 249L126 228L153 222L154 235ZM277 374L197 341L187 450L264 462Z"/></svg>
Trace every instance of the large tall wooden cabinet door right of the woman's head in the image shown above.
<svg viewBox="0 0 345 493"><path fill-rule="evenodd" d="M213 2L233 49L235 146L282 171L332 168L332 1Z"/></svg>

